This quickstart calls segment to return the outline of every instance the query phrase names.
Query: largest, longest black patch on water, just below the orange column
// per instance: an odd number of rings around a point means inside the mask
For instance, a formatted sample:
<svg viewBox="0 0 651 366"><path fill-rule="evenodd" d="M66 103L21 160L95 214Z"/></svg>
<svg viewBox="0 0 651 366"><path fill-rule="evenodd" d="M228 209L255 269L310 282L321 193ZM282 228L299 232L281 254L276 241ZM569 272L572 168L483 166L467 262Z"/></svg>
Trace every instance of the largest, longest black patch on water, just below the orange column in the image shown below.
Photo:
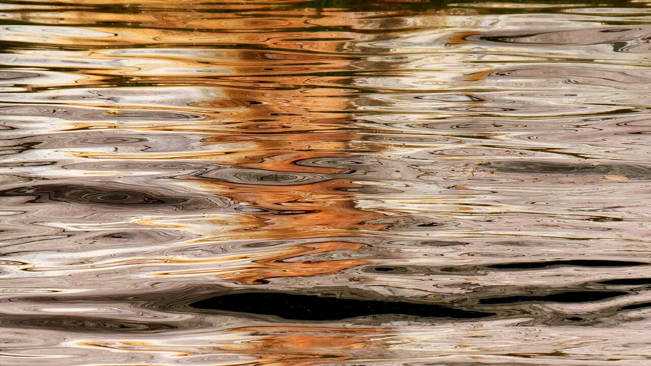
<svg viewBox="0 0 651 366"><path fill-rule="evenodd" d="M191 306L197 309L274 315L290 320L341 320L381 314L437 318L483 318L495 315L425 303L325 298L279 292L229 294L201 300Z"/></svg>

